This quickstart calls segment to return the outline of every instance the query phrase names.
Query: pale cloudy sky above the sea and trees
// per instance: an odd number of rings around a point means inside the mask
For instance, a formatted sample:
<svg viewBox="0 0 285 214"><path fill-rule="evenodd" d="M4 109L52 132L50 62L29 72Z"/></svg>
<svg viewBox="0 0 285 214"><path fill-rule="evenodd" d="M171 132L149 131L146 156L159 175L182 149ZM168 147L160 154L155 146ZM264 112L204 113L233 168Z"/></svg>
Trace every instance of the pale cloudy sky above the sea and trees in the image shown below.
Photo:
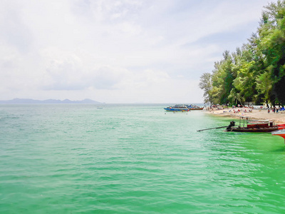
<svg viewBox="0 0 285 214"><path fill-rule="evenodd" d="M202 103L264 0L1 0L0 100Z"/></svg>

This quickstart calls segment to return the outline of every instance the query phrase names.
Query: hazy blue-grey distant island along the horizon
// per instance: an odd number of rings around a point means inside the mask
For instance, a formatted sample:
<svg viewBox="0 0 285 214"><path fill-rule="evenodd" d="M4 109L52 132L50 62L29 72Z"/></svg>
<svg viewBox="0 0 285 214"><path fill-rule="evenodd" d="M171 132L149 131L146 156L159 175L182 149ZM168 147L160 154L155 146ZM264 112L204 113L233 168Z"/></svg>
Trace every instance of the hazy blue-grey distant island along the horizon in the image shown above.
<svg viewBox="0 0 285 214"><path fill-rule="evenodd" d="M9 101L0 101L0 104L103 104L103 103L100 103L98 101L93 101L90 99L84 99L83 101L71 101L68 99L65 99L63 101L54 100L54 99L38 101L27 98L14 98L13 100Z"/></svg>

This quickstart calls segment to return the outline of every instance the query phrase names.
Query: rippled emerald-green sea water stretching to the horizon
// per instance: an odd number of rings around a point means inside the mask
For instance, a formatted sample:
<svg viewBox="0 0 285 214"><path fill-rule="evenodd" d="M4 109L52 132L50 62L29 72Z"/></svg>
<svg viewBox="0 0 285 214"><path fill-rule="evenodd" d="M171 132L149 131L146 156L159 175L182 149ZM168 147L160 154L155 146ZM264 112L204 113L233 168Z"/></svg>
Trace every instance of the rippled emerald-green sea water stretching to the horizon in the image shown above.
<svg viewBox="0 0 285 214"><path fill-rule="evenodd" d="M285 144L165 105L1 105L0 213L285 213Z"/></svg>

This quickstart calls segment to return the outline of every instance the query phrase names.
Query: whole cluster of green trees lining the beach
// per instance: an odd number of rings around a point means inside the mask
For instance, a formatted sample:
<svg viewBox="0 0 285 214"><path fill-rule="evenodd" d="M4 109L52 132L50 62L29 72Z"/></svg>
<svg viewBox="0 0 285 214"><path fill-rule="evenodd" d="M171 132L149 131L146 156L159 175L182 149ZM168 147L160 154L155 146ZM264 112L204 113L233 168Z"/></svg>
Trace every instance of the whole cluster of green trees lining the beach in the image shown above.
<svg viewBox="0 0 285 214"><path fill-rule="evenodd" d="M285 0L264 6L257 32L232 54L224 51L199 87L204 103L285 104Z"/></svg>

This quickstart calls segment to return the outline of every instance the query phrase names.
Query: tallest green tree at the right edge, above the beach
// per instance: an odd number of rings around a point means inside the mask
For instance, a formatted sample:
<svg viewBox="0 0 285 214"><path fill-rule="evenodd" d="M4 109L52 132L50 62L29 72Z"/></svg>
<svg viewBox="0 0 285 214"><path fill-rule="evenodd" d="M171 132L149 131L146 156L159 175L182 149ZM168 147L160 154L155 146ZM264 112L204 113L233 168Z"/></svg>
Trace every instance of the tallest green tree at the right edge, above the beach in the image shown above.
<svg viewBox="0 0 285 214"><path fill-rule="evenodd" d="M266 73L259 76L260 82L270 80L270 94L264 98L271 103L285 103L285 1L277 1L265 7L263 24L259 28L260 42L257 48L264 54ZM263 90L264 91L264 90Z"/></svg>

